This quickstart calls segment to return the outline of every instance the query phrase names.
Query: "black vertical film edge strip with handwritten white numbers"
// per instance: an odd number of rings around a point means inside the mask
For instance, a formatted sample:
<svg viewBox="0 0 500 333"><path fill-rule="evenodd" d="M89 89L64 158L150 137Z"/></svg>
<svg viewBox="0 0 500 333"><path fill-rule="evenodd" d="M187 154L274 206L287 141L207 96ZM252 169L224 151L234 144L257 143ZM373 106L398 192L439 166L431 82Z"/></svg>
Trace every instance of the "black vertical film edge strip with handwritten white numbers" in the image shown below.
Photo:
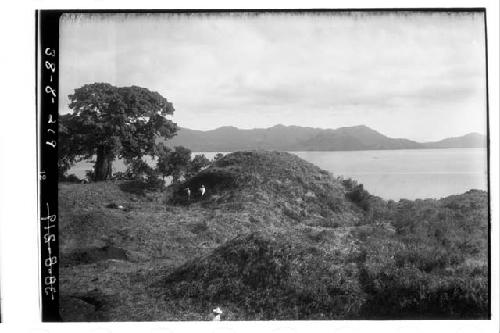
<svg viewBox="0 0 500 333"><path fill-rule="evenodd" d="M38 11L39 93L39 212L42 321L61 321L59 316L58 234L58 91L59 17L55 11Z"/></svg>

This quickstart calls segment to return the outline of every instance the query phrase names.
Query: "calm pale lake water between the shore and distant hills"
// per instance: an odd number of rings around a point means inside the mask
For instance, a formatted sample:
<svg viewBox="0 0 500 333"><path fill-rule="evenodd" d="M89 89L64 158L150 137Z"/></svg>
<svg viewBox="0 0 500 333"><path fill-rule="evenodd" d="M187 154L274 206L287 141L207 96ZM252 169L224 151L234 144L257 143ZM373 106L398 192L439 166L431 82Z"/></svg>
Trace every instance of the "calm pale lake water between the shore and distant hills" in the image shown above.
<svg viewBox="0 0 500 333"><path fill-rule="evenodd" d="M293 152L334 176L356 179L384 199L441 198L487 189L487 151L482 148ZM201 154L201 153L193 153ZM216 153L202 153L212 159ZM70 169L79 178L92 164ZM114 171L124 171L115 161Z"/></svg>

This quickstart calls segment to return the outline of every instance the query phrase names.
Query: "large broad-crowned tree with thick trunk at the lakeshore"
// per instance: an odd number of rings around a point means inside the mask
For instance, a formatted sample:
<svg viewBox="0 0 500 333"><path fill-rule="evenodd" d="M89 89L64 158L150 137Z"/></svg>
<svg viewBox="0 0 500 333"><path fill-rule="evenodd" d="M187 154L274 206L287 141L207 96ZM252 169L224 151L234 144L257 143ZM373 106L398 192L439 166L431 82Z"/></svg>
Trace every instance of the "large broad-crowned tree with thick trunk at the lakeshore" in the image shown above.
<svg viewBox="0 0 500 333"><path fill-rule="evenodd" d="M156 139L177 132L177 125L165 117L173 114L172 103L146 88L93 83L75 89L69 99L73 112L60 118L61 160L96 156L95 180L111 177L116 157L154 156Z"/></svg>

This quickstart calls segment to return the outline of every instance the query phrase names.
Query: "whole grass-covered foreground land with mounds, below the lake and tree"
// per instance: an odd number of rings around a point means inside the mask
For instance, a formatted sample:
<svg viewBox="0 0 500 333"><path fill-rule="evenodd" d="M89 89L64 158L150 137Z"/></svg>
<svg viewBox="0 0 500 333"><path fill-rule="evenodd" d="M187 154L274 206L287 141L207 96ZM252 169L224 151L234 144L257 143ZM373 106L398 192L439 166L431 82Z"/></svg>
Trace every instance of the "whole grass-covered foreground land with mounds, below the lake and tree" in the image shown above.
<svg viewBox="0 0 500 333"><path fill-rule="evenodd" d="M386 202L278 152L139 185L60 185L63 320L489 316L485 192Z"/></svg>

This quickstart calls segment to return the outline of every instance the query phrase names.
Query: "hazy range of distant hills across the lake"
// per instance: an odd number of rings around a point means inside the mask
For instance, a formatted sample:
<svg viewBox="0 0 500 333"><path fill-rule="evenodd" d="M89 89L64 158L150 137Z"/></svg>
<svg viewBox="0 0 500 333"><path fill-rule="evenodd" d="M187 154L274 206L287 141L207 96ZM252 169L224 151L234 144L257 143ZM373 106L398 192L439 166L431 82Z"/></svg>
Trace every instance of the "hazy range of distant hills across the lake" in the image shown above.
<svg viewBox="0 0 500 333"><path fill-rule="evenodd" d="M192 151L238 151L249 149L280 151L349 151L423 148L486 147L484 135L467 134L437 142L419 143L403 138L390 138L367 126L321 129L276 125L269 128L239 129L219 127L200 131L181 128L170 147L186 146Z"/></svg>

